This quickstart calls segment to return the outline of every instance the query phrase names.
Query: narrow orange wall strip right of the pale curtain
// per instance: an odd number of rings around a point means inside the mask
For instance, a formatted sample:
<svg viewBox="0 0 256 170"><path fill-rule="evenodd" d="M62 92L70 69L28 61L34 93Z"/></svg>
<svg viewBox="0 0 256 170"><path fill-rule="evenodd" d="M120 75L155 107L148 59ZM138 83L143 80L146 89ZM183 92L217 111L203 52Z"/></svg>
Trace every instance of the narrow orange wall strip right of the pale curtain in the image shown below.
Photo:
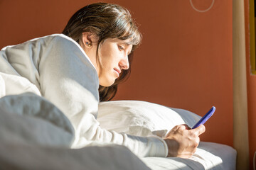
<svg viewBox="0 0 256 170"><path fill-rule="evenodd" d="M245 0L245 43L247 64L247 98L248 98L248 130L250 166L252 169L253 155L256 152L256 75L250 72L250 30L249 30L249 1Z"/></svg>

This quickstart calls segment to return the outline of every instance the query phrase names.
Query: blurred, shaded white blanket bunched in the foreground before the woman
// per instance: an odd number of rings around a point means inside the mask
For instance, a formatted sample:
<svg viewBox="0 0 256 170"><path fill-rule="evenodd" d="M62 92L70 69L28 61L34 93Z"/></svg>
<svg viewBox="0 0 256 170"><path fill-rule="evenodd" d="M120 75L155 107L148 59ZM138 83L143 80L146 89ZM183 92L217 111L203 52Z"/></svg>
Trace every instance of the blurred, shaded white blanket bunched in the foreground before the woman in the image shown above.
<svg viewBox="0 0 256 170"><path fill-rule="evenodd" d="M0 98L0 169L149 168L126 147L70 149L70 121L44 98L21 94Z"/></svg>

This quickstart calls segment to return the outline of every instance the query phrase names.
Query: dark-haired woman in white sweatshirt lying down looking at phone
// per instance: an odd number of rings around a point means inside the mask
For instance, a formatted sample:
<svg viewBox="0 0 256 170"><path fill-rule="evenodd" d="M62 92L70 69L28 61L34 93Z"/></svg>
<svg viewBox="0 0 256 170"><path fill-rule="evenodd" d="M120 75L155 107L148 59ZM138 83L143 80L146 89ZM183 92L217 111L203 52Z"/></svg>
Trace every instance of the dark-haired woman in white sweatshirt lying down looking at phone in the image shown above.
<svg viewBox="0 0 256 170"><path fill-rule="evenodd" d="M0 72L28 79L38 89L35 93L65 113L75 128L75 148L114 143L142 157L191 157L203 125L194 130L178 125L161 139L108 131L96 120L98 102L110 100L129 75L140 41L127 9L90 4L70 18L63 34L4 47Z"/></svg>

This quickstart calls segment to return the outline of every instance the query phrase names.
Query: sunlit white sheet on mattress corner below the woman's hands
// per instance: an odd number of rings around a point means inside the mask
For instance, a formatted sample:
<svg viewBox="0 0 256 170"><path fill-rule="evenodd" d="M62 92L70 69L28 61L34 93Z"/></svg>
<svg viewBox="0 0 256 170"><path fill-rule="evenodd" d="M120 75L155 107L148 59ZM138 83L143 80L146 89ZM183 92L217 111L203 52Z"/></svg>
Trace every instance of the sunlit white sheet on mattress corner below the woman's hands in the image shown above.
<svg viewBox="0 0 256 170"><path fill-rule="evenodd" d="M227 145L201 142L196 153L189 159L145 157L142 161L154 170L166 169L211 169L234 170L236 152Z"/></svg>

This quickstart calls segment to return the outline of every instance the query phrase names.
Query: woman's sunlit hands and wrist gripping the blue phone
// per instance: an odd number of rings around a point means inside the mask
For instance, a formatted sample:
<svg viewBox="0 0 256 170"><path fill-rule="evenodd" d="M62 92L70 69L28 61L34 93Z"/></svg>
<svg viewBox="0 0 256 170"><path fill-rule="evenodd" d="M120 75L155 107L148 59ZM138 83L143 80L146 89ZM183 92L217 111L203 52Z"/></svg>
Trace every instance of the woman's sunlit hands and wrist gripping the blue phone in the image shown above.
<svg viewBox="0 0 256 170"><path fill-rule="evenodd" d="M204 125L193 130L188 125L176 125L164 138L169 149L167 157L191 157L198 147L199 135L205 131Z"/></svg>

